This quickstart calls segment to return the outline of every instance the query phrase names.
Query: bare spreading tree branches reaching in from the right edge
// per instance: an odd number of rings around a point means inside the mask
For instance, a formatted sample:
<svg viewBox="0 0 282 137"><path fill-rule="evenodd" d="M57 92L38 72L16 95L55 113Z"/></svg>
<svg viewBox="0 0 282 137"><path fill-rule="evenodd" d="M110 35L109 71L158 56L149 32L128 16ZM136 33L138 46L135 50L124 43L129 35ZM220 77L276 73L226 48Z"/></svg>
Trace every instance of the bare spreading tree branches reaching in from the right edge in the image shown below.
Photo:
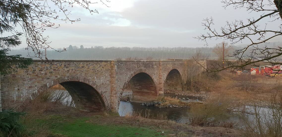
<svg viewBox="0 0 282 137"><path fill-rule="evenodd" d="M230 44L232 45L244 39L250 41L249 45L243 49L235 50L230 55L236 61L228 61L226 59L224 66L215 62L213 67L205 71L208 74L216 74L225 69L244 70L247 65L259 66L259 62L266 62L270 65L281 65L281 60L278 59L282 55L281 46L269 47L258 44L268 43L269 40L282 36L282 0L223 0L222 3L224 8L228 6L233 6L235 9L245 8L249 12L261 13L261 16L248 18L246 22L243 20L226 21L226 25L221 27L220 30L213 28L214 21L212 17L204 19L202 25L208 32L195 37L201 41L207 43L207 39L222 38L230 40ZM276 29L270 30L267 25L272 22L281 24ZM265 25L260 26L258 24Z"/></svg>

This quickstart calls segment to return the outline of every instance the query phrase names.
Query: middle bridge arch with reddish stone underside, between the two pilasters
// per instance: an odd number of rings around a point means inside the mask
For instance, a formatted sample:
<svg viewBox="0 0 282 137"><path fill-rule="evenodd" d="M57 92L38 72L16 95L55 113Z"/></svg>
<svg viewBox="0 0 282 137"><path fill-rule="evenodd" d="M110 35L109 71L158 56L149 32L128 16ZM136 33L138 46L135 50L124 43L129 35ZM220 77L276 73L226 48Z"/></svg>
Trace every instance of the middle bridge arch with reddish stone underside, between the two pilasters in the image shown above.
<svg viewBox="0 0 282 137"><path fill-rule="evenodd" d="M157 82L146 69L138 69L130 74L125 81L119 98L121 98L125 89L131 88L132 102L146 102L158 99Z"/></svg>

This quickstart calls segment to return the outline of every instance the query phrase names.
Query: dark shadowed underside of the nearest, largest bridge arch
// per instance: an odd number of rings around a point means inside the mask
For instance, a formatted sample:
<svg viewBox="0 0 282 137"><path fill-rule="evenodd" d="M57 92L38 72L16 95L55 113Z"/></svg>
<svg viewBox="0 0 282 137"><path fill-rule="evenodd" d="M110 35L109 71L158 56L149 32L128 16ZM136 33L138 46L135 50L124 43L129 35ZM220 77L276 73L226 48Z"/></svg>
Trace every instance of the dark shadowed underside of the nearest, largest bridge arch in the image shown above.
<svg viewBox="0 0 282 137"><path fill-rule="evenodd" d="M84 111L103 111L105 103L97 90L92 86L78 81L60 83L72 96L76 108Z"/></svg>

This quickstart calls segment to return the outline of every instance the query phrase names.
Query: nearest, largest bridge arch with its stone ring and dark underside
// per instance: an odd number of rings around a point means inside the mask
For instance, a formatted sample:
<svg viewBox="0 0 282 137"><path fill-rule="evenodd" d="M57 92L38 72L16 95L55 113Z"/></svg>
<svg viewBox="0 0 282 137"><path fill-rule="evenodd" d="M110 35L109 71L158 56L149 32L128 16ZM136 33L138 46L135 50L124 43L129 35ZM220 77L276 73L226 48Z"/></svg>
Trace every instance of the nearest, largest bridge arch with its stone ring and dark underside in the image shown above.
<svg viewBox="0 0 282 137"><path fill-rule="evenodd" d="M31 94L30 98L36 98L36 96L57 84L62 85L68 90L78 109L85 111L110 110L107 97L104 95L104 92L100 90L99 86L90 79L80 76L72 75L53 79L38 87L37 90Z"/></svg>

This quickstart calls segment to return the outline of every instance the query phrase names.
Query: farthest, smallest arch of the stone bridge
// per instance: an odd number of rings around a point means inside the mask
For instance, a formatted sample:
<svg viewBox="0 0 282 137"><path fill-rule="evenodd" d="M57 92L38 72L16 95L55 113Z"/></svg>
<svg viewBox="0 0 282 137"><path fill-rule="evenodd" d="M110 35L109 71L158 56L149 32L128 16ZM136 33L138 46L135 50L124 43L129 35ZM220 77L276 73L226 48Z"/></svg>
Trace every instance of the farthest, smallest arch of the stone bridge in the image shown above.
<svg viewBox="0 0 282 137"><path fill-rule="evenodd" d="M183 79L179 69L171 69L164 78L164 92L183 91Z"/></svg>

